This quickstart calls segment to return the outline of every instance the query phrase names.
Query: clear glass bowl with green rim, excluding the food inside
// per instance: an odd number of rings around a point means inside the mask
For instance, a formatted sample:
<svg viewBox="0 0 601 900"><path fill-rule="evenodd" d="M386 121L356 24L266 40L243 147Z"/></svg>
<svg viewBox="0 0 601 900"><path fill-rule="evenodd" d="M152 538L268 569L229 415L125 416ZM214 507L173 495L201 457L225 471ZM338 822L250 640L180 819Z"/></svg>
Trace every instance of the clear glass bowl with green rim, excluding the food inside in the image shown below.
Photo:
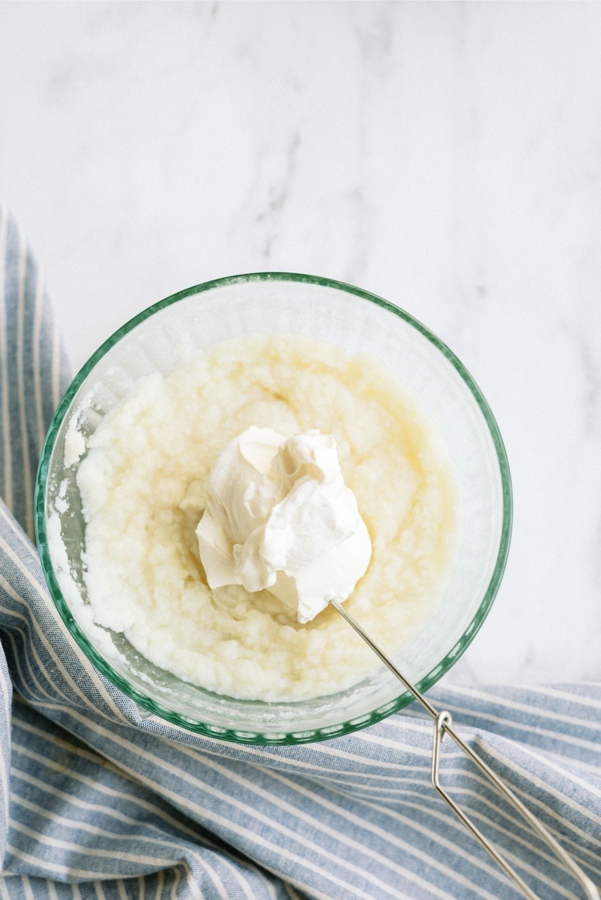
<svg viewBox="0 0 601 900"><path fill-rule="evenodd" d="M170 372L183 338L189 354L257 332L305 335L377 359L441 429L460 482L458 559L433 616L394 657L423 691L440 679L478 632L505 568L512 510L505 448L487 401L449 347L392 303L350 284L282 272L235 275L173 294L123 325L77 374L52 420L36 485L36 534L50 593L71 635L140 707L226 741L305 743L378 722L411 696L399 693L384 667L329 697L265 703L214 694L153 665L123 635L94 624L82 580L78 463L65 465L65 441L75 427L91 434L137 378Z"/></svg>

